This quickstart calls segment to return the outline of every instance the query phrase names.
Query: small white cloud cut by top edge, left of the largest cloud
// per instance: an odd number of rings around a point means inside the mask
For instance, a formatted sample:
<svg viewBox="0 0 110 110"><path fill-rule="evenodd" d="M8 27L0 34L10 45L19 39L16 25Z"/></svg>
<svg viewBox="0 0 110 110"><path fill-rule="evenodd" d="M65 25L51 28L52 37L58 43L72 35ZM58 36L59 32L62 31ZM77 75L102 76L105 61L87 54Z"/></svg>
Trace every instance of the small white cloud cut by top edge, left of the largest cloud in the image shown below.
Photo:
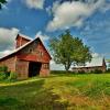
<svg viewBox="0 0 110 110"><path fill-rule="evenodd" d="M30 9L43 9L45 0L25 0Z"/></svg>

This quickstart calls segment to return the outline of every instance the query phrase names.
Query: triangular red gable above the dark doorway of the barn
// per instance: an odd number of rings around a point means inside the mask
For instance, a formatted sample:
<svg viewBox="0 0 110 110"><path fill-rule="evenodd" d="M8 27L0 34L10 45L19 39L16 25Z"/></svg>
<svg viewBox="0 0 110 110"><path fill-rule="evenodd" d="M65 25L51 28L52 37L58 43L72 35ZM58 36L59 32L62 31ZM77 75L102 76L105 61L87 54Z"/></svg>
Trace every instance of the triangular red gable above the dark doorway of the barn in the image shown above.
<svg viewBox="0 0 110 110"><path fill-rule="evenodd" d="M46 48L44 47L42 41L37 37L29 45L19 51L18 58L24 61L48 63L51 56L46 51Z"/></svg>

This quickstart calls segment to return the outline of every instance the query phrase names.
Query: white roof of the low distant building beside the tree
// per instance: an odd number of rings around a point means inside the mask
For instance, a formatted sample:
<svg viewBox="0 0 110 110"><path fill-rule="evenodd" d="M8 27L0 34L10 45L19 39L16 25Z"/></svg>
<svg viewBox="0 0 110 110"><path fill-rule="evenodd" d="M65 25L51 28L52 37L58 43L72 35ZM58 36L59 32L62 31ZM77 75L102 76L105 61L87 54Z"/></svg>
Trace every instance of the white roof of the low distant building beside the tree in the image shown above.
<svg viewBox="0 0 110 110"><path fill-rule="evenodd" d="M95 66L102 66L103 63L103 57L101 56L97 56L97 57L92 57L91 62L86 63L86 66L74 66L75 68L78 67L95 67Z"/></svg>

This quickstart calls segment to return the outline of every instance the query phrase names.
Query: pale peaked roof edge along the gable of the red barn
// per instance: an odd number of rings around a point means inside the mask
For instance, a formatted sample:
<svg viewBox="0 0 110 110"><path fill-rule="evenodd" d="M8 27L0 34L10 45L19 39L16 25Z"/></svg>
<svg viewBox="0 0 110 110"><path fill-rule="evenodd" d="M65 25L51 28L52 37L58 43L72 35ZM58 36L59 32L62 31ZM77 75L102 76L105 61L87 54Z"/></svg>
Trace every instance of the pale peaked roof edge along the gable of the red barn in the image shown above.
<svg viewBox="0 0 110 110"><path fill-rule="evenodd" d="M1 57L0 58L0 61L2 61L2 59L6 59L7 57L9 57L9 56L11 56L11 55L14 55L14 54L16 54L18 52L20 52L21 50L23 50L24 47L26 47L28 45L30 45L31 43L33 43L35 40L38 40L41 43L42 43L42 41L41 41L41 38L40 37L35 37L34 40L32 40L32 41L30 41L30 42L28 42L28 43L25 43L24 45L22 45L22 46L20 46L20 47L18 47L18 48L15 48L14 51L12 51L9 55L6 55L6 56L3 56L3 57ZM43 43L42 43L42 45L43 45ZM43 45L44 46L44 45ZM45 46L44 46L44 48L45 48ZM48 51L45 48L45 51L47 52L47 54L48 54ZM48 54L48 56L51 57L51 55ZM52 58L52 57L51 57Z"/></svg>

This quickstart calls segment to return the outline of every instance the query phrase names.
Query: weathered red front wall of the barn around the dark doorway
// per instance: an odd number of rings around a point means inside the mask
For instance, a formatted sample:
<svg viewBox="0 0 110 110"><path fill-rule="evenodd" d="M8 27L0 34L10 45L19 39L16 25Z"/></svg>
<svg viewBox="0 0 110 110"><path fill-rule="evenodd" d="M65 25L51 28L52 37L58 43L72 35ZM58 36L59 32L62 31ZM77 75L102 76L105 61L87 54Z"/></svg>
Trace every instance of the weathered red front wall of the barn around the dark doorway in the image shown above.
<svg viewBox="0 0 110 110"><path fill-rule="evenodd" d="M30 52L31 50L31 52ZM47 54L47 52L45 51L45 48L43 47L42 43L37 43L34 42L31 45L26 46L25 48L23 48L20 53L18 53L16 55L18 61L19 61L19 65L16 65L18 68L23 67L23 70L19 70L18 73L19 75L24 74L25 76L23 77L28 77L29 72L29 63L30 62L38 62L42 63L42 67L40 70L40 76L48 76L50 75L50 56ZM46 65L48 65L48 67L44 67Z"/></svg>

